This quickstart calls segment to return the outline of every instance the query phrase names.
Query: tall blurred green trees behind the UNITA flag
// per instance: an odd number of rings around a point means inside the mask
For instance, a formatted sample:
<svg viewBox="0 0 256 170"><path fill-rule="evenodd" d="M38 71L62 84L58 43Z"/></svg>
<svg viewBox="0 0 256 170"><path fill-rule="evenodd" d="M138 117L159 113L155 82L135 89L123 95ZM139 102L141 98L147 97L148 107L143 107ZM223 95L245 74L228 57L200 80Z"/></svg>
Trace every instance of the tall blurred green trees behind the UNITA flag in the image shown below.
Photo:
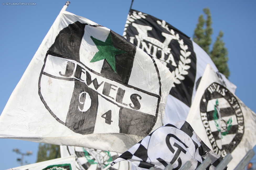
<svg viewBox="0 0 256 170"><path fill-rule="evenodd" d="M204 14L206 15L206 20L204 19L204 15L200 15L198 19L198 24L196 25L193 40L196 44L198 44L207 54L211 57L212 61L216 65L219 72L224 74L227 78L230 75L230 71L228 69L228 51L225 48L225 43L222 40L223 32L220 31L219 35L213 45L212 51L210 51L210 45L212 43L212 34L213 29L211 12L209 8L203 9Z"/></svg>

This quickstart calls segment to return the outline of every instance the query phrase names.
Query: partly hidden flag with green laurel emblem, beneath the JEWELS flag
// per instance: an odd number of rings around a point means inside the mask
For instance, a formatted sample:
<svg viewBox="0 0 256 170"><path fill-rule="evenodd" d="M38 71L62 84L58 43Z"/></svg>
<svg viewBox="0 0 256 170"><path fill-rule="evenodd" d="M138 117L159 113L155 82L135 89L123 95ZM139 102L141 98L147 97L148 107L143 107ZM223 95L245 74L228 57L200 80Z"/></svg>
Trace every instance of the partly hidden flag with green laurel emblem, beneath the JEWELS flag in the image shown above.
<svg viewBox="0 0 256 170"><path fill-rule="evenodd" d="M121 154L89 149L77 146L60 146L61 157L74 155L76 157L76 170L100 170L113 162ZM131 170L132 164L122 161L111 167L111 170Z"/></svg>

